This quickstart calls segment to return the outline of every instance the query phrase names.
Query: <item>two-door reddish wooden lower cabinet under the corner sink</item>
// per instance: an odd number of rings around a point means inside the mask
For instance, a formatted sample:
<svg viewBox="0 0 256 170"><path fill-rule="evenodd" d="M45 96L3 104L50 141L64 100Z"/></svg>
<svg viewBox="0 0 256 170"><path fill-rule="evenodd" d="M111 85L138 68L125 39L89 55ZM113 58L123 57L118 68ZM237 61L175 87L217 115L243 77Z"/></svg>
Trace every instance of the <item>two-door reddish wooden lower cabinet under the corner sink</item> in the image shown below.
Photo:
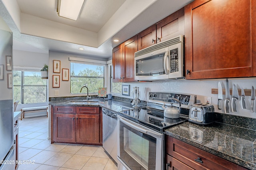
<svg viewBox="0 0 256 170"><path fill-rule="evenodd" d="M51 142L102 145L100 111L99 107L52 106Z"/></svg>

